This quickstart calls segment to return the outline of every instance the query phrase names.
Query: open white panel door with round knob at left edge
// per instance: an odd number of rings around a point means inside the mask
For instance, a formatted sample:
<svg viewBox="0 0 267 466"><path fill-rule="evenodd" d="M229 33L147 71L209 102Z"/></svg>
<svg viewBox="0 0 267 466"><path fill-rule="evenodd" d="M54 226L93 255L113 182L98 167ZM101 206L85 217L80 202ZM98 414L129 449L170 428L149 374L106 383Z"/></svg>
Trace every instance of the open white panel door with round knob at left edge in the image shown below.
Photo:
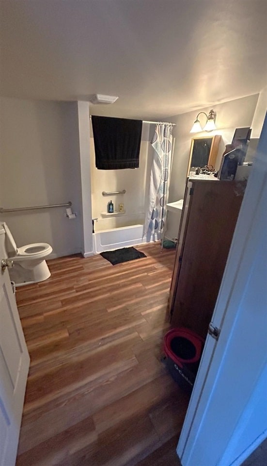
<svg viewBox="0 0 267 466"><path fill-rule="evenodd" d="M4 231L0 227L0 243ZM5 259L2 247L0 260ZM30 365L7 268L0 270L0 466L14 466Z"/></svg>

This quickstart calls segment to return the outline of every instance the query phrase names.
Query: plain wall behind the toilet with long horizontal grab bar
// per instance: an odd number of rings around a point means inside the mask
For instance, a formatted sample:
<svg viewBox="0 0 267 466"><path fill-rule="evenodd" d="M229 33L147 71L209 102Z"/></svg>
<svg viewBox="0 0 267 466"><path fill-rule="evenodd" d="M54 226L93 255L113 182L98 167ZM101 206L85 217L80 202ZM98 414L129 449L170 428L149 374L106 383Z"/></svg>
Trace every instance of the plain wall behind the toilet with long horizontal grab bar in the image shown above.
<svg viewBox="0 0 267 466"><path fill-rule="evenodd" d="M68 220L54 208L0 216L18 246L47 242L54 256L81 250L81 180L77 102L1 99L0 205L73 202Z"/></svg>

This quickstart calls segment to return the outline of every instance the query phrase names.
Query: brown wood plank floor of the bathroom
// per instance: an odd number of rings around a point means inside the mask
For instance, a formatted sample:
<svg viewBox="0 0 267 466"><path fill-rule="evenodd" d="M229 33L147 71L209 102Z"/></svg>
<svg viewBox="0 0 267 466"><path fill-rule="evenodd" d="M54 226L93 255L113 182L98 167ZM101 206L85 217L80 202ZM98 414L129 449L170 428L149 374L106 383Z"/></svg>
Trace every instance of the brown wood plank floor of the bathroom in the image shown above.
<svg viewBox="0 0 267 466"><path fill-rule="evenodd" d="M17 288L31 356L16 466L178 466L188 407L160 362L175 250L48 261Z"/></svg>

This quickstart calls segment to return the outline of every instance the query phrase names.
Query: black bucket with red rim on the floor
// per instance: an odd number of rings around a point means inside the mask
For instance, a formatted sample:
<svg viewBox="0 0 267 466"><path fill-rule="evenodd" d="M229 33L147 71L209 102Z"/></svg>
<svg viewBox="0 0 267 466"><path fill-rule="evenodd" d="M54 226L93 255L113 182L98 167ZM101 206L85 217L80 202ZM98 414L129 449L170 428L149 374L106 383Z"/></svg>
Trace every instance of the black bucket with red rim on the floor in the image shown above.
<svg viewBox="0 0 267 466"><path fill-rule="evenodd" d="M166 366L182 390L191 393L196 379L204 339L189 329L178 327L164 336Z"/></svg>

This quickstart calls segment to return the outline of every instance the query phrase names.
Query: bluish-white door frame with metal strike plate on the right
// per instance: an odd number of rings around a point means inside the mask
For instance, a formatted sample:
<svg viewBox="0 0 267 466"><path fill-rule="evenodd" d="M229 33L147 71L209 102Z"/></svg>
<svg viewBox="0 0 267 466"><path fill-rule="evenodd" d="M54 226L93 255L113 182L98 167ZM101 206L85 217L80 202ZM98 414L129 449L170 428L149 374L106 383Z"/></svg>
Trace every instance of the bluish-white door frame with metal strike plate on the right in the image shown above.
<svg viewBox="0 0 267 466"><path fill-rule="evenodd" d="M267 437L267 117L212 321L220 335L206 339L183 466L239 466Z"/></svg>

